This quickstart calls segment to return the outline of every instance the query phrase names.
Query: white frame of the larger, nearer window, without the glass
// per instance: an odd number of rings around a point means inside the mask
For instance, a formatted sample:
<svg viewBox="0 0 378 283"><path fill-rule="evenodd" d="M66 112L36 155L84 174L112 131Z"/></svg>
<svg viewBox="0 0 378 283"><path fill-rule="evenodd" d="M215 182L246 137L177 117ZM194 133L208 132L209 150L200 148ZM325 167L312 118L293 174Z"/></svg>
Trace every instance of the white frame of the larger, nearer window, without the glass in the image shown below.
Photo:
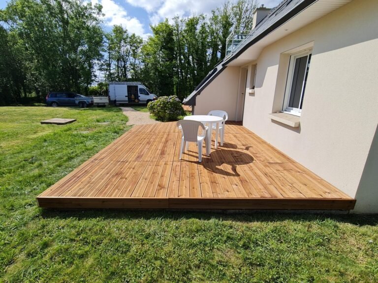
<svg viewBox="0 0 378 283"><path fill-rule="evenodd" d="M304 80L302 82L302 92L301 92L301 97L299 99L299 103L301 104L304 92L306 90L306 88L305 89L303 89L303 88L305 87L305 82L307 81L307 76L308 76L307 66L309 64L310 55L312 55L312 54L313 54L313 49L311 48L311 49L302 50L300 52L297 52L297 53L290 55L289 68L288 68L288 71L287 71L287 79L286 79L285 94L284 94L284 104L283 104L283 108L282 108L283 109L282 112L284 112L284 113L288 113L288 114L292 114L292 115L296 115L296 116L300 116L301 113L302 113L302 109L289 107L289 105L288 105L289 101L290 101L291 88L292 88L292 82L293 82L293 76L294 76L294 66L295 66L295 61L296 61L297 58L307 56L306 73L305 73L305 76L304 76ZM310 68L309 68L309 70L310 70Z"/></svg>

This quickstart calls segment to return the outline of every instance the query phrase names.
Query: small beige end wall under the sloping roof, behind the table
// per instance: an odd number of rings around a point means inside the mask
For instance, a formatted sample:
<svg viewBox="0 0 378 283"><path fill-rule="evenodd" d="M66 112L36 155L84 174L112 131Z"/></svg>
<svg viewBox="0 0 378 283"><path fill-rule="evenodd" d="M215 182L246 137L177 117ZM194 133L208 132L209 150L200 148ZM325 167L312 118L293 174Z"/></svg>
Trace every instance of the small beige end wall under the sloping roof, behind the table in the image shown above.
<svg viewBox="0 0 378 283"><path fill-rule="evenodd" d="M228 113L229 120L235 120L239 76L239 67L226 67L196 97L194 114L204 115L211 110L223 110Z"/></svg>

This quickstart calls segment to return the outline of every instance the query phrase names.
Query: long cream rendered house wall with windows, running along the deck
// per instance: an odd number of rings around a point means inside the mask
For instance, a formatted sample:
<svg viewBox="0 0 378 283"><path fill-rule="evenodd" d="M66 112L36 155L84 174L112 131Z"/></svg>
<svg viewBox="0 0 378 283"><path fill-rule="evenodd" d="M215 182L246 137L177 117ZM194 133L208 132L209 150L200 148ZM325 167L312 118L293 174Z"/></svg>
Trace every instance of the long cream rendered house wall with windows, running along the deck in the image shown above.
<svg viewBox="0 0 378 283"><path fill-rule="evenodd" d="M378 213L377 15L376 0L354 0L266 47L243 116L245 127L357 198L363 213ZM304 44L313 55L300 127L291 128L268 114L283 107L286 52Z"/></svg>

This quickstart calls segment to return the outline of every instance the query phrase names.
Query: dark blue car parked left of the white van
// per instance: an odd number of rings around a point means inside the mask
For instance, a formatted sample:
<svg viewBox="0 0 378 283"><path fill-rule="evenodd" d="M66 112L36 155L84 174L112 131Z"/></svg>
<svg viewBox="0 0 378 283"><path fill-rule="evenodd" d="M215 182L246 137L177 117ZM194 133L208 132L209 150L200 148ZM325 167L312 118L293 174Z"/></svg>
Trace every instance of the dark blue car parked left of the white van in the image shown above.
<svg viewBox="0 0 378 283"><path fill-rule="evenodd" d="M93 105L92 97L87 97L74 92L54 91L49 92L46 96L47 106L79 106L86 108Z"/></svg>

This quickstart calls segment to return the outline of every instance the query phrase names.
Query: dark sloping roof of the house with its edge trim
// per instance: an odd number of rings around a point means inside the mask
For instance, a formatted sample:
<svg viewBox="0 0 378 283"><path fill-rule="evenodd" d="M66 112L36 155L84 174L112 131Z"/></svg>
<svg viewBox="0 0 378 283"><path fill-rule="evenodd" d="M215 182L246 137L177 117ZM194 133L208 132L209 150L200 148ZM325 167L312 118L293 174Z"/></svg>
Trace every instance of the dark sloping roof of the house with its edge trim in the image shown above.
<svg viewBox="0 0 378 283"><path fill-rule="evenodd" d="M186 105L195 105L195 97L209 85L226 68L226 65L239 57L253 44L264 38L270 32L284 24L287 20L307 8L317 0L283 0L276 7L272 8L269 14L253 29L253 34L249 41L241 46L232 56L224 58L207 76L196 86L194 91L184 99Z"/></svg>

